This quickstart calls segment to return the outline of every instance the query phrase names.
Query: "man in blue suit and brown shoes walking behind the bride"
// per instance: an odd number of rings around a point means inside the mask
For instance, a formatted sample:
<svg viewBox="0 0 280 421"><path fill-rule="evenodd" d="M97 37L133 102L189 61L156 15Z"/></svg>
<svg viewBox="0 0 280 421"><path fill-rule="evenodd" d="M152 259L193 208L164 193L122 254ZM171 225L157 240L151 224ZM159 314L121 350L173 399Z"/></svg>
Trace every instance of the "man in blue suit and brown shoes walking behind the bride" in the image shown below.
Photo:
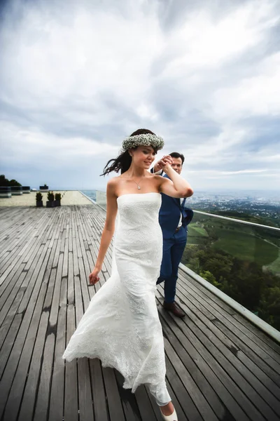
<svg viewBox="0 0 280 421"><path fill-rule="evenodd" d="M167 177L163 169L165 163L170 163L176 173L181 174L185 157L178 152L164 156L155 163L151 173ZM168 177L167 177L168 178ZM165 281L165 302L163 307L174 316L183 318L186 313L175 304L176 282L179 263L185 250L188 235L188 224L193 219L193 210L185 208L186 199L174 199L162 193L160 208L160 226L163 236L162 265L157 283Z"/></svg>

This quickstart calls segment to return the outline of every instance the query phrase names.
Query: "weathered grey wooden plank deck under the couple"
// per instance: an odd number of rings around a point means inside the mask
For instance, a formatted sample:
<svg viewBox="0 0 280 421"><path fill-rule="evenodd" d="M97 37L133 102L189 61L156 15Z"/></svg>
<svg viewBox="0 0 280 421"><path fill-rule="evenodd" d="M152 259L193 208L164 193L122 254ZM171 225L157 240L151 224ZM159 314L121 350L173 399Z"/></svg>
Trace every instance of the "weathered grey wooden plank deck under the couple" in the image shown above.
<svg viewBox="0 0 280 421"><path fill-rule="evenodd" d="M0 418L3 421L161 420L99 360L62 354L94 295L98 207L0 208ZM100 285L109 277L111 249ZM280 347L182 272L184 320L162 310L167 384L179 420L280 420Z"/></svg>

